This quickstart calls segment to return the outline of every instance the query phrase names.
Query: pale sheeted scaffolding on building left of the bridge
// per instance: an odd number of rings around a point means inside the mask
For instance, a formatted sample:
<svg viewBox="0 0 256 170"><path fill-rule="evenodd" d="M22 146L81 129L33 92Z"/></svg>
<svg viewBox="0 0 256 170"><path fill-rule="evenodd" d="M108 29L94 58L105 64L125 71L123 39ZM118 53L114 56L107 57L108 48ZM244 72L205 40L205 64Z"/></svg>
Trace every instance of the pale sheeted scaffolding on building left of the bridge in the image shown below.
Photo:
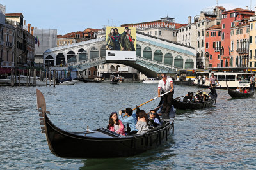
<svg viewBox="0 0 256 170"><path fill-rule="evenodd" d="M39 39L35 44L35 55L43 55L49 48L57 46L57 29L34 29L34 36Z"/></svg>

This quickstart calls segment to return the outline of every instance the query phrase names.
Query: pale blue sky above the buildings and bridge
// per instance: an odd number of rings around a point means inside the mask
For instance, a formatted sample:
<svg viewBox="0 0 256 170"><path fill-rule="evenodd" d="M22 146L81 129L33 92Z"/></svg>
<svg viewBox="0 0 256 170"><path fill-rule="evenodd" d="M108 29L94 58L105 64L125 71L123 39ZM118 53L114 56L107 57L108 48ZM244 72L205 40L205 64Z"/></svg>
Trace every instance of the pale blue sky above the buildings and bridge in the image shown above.
<svg viewBox="0 0 256 170"><path fill-rule="evenodd" d="M252 3L251 3L252 2ZM26 24L43 29L57 29L58 34L102 29L106 25L131 24L160 20L168 15L177 23L188 23L205 8L214 8L216 0L0 0L6 13L23 13ZM254 11L256 0L218 0L227 10L246 8Z"/></svg>

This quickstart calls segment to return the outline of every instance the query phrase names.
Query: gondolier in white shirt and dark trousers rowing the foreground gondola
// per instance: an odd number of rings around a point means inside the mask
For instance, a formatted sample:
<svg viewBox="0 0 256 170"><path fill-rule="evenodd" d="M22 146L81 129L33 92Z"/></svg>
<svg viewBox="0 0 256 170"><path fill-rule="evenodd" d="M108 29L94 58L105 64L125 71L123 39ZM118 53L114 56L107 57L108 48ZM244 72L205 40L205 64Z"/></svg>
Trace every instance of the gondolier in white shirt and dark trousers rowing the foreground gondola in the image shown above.
<svg viewBox="0 0 256 170"><path fill-rule="evenodd" d="M160 80L159 83L158 83L158 97L160 97L160 92L161 91L162 91L162 94L170 91L168 94L162 96L163 108L161 110L161 113L162 113L162 117L169 118L168 113L169 113L170 108L172 106L172 97L173 97L173 94L174 94L174 85L173 85L172 78L167 77L166 73L162 73L161 78L162 78L162 80Z"/></svg>

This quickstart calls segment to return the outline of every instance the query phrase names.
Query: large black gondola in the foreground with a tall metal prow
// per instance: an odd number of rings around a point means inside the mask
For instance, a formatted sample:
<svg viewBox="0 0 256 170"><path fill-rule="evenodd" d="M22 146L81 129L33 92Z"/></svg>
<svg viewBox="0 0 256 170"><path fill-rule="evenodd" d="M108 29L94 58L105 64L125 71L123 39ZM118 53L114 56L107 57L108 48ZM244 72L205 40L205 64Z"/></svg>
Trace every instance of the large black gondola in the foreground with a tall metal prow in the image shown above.
<svg viewBox="0 0 256 170"><path fill-rule="evenodd" d="M46 111L45 98L36 89L36 99L42 133L46 134L51 152L57 157L71 159L128 157L146 152L168 140L174 132L175 109L170 111L163 124L145 134L122 136L108 129L87 129L84 132L68 132L52 124ZM158 107L159 108L159 107Z"/></svg>

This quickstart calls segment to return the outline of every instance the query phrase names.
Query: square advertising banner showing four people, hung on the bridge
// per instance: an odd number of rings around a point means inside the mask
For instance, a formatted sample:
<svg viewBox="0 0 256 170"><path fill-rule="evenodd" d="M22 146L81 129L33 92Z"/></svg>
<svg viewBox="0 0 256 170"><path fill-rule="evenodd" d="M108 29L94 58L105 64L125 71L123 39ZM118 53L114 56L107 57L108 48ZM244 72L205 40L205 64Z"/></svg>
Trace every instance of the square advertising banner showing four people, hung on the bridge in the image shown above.
<svg viewBox="0 0 256 170"><path fill-rule="evenodd" d="M106 60L136 60L136 28L106 27Z"/></svg>

